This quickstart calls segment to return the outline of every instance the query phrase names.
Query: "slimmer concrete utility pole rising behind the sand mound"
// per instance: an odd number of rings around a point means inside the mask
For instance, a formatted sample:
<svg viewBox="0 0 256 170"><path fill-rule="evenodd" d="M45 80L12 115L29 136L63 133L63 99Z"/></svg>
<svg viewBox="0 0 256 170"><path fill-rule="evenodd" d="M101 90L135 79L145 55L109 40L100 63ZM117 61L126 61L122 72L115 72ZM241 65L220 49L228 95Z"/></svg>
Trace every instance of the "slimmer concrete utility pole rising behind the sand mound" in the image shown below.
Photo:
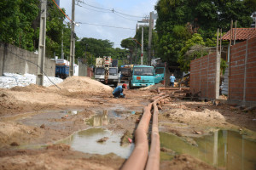
<svg viewBox="0 0 256 170"><path fill-rule="evenodd" d="M75 50L75 37L74 37L74 12L75 0L72 0L72 21L71 21L71 41L70 41L70 67L69 76L73 77L73 63L74 63L74 50Z"/></svg>

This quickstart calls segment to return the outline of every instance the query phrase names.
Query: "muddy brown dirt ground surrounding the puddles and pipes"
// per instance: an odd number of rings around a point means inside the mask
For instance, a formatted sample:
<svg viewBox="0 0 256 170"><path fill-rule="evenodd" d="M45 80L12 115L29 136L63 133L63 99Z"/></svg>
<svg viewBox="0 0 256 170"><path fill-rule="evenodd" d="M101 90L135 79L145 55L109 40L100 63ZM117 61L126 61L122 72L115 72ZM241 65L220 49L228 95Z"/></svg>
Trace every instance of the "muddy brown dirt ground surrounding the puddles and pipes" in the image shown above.
<svg viewBox="0 0 256 170"><path fill-rule="evenodd" d="M113 133L131 135L143 106L157 94L156 90L125 89L125 99L115 99L113 88L84 77L70 77L49 88L30 85L0 89L0 169L119 169L124 158L114 154L96 155L72 150L68 144L56 143L90 127L86 121L96 111L136 111L116 117L104 128ZM166 91L171 94L171 92ZM190 137L211 135L214 129L230 129L256 139L256 113L242 111L221 101L184 100L187 92L172 95L162 105L160 132L172 133L193 144ZM79 111L75 115L55 111ZM30 117L37 117L38 119ZM171 123L172 122L172 123ZM185 124L187 128L176 126ZM121 139L120 139L121 140ZM127 142L127 140L126 140ZM43 145L43 147L42 147ZM165 151L162 149L162 151ZM189 155L161 161L160 169L215 169Z"/></svg>

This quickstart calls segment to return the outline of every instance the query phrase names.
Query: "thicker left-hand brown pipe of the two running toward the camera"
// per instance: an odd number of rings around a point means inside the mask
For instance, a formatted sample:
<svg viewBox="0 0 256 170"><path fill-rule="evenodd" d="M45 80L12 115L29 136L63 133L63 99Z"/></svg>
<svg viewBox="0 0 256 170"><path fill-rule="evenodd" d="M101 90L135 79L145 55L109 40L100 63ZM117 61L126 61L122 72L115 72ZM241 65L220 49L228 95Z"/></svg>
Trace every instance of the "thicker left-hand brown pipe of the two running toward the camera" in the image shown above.
<svg viewBox="0 0 256 170"><path fill-rule="evenodd" d="M144 107L141 121L135 131L135 147L131 156L125 161L123 170L144 169L148 160L148 125L151 119L152 103Z"/></svg>

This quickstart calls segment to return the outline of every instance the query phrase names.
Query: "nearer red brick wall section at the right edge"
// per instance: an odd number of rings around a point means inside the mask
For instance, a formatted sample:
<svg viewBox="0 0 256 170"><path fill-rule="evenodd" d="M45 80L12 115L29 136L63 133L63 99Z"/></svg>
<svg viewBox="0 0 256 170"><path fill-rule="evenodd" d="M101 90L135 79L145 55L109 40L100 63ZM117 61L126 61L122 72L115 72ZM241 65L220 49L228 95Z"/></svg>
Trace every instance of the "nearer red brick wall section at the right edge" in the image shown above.
<svg viewBox="0 0 256 170"><path fill-rule="evenodd" d="M247 54L247 63L246 62ZM246 68L246 77L245 77ZM244 78L246 83L244 87ZM230 100L256 102L256 38L237 43L230 55Z"/></svg>

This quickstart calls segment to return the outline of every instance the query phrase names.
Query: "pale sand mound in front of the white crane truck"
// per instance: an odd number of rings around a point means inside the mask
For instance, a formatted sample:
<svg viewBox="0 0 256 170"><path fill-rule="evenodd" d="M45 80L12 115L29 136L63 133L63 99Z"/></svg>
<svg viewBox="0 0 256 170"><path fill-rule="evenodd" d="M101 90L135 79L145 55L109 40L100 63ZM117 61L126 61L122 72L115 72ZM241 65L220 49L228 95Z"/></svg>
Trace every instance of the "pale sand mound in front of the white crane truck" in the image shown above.
<svg viewBox="0 0 256 170"><path fill-rule="evenodd" d="M68 77L64 82L57 84L61 89L67 89L69 92L109 92L113 88L102 84L90 77Z"/></svg>

